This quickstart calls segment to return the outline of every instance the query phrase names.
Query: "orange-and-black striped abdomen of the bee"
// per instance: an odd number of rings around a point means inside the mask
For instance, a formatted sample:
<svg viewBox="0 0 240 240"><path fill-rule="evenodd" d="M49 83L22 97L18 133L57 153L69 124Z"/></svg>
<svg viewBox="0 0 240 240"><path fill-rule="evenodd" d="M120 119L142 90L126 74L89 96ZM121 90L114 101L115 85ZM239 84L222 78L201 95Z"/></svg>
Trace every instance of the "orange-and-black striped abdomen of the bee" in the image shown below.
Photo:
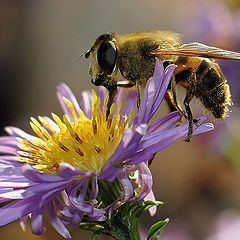
<svg viewBox="0 0 240 240"><path fill-rule="evenodd" d="M195 96L215 118L224 118L231 103L229 85L219 65L208 58L179 57L175 70L177 84L188 88L194 71L196 73Z"/></svg>

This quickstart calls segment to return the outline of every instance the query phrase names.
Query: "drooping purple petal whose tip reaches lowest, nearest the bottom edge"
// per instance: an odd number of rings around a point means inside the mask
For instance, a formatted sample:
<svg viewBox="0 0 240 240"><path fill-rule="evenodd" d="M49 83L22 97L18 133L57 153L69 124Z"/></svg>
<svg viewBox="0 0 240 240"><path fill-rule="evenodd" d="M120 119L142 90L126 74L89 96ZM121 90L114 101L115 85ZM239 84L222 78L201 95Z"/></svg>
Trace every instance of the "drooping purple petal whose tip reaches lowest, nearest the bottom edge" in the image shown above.
<svg viewBox="0 0 240 240"><path fill-rule="evenodd" d="M49 203L45 207L48 219L50 220L52 226L56 229L56 231L61 234L63 237L70 239L71 235L61 219L57 216L53 203Z"/></svg>

